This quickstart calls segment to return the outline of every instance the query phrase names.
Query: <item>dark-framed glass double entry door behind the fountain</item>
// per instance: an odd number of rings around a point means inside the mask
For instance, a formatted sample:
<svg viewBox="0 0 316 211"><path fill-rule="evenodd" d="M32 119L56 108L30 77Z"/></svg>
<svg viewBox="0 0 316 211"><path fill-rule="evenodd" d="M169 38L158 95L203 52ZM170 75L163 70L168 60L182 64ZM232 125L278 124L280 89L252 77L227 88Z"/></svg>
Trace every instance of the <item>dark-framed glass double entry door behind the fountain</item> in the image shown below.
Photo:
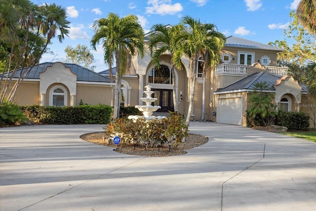
<svg viewBox="0 0 316 211"><path fill-rule="evenodd" d="M155 91L152 97L156 97L157 100L152 103L153 106L160 106L161 108L157 112L174 111L173 108L173 96L170 89L152 89Z"/></svg>

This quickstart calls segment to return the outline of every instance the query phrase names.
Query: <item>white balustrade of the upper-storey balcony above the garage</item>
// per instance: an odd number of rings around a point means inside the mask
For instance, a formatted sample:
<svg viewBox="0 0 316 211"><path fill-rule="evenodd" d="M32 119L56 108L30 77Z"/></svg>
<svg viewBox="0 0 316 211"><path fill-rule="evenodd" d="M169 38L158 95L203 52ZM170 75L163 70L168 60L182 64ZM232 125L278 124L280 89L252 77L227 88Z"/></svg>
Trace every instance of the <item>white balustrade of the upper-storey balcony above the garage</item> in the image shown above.
<svg viewBox="0 0 316 211"><path fill-rule="evenodd" d="M247 76L247 69L249 68L250 74L255 72L261 72L266 71L266 73L275 75L278 77L287 76L287 70L286 67L272 67L267 66L265 68L255 68L255 67L248 67L247 65L240 65L240 64L220 64L215 67L215 76L218 75L235 75L235 76ZM255 68L255 69L254 69Z"/></svg>

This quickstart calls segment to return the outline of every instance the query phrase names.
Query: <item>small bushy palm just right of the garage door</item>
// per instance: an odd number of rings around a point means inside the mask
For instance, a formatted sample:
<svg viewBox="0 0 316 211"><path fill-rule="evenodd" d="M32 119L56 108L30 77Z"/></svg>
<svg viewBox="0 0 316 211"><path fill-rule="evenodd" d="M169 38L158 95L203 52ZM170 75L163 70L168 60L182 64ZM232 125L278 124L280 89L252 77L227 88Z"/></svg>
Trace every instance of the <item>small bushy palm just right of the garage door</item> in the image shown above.
<svg viewBox="0 0 316 211"><path fill-rule="evenodd" d="M254 85L256 91L251 93L248 99L251 106L246 112L247 115L257 123L251 123L249 120L249 124L260 123L262 126L269 126L273 124L273 119L276 116L276 106L272 103L274 95L270 92L264 92L264 90L268 90L269 88L266 82L256 83ZM261 118L261 120L259 121L258 118Z"/></svg>

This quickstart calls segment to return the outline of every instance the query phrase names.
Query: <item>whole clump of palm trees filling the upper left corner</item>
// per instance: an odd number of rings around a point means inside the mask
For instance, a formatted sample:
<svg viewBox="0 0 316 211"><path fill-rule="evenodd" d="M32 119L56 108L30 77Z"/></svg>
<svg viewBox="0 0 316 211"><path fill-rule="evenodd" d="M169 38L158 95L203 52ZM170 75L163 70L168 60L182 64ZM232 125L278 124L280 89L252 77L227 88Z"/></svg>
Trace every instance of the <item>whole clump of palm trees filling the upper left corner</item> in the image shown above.
<svg viewBox="0 0 316 211"><path fill-rule="evenodd" d="M30 0L1 1L0 43L5 46L0 49L0 66L7 62L3 72L10 74L9 80L1 84L0 104L4 96L13 102L17 88L47 52L51 40L58 37L62 42L67 36L70 22L66 18L66 10L55 3L37 5ZM13 77L18 80L12 80Z"/></svg>

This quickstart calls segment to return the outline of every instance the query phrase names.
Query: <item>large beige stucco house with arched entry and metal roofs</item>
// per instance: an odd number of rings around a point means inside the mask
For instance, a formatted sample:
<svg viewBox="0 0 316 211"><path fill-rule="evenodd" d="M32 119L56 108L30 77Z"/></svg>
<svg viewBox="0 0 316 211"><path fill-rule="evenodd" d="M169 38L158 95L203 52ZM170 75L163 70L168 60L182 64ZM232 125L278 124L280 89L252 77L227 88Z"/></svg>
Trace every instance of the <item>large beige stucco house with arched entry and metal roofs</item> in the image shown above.
<svg viewBox="0 0 316 211"><path fill-rule="evenodd" d="M145 37L145 46L149 38ZM246 126L245 111L249 95L257 82L267 82L265 91L275 93L275 103L280 109L311 113L305 97L307 86L288 76L287 68L276 67L277 53L282 49L267 44L230 36L221 50L221 63L209 68L205 76L198 68L192 119ZM155 68L151 56L133 58L131 68L122 77L121 105L143 105L144 86L149 84L160 105L157 112L166 113L178 105L178 112L188 113L189 59L182 58L181 70L175 70L177 102L172 98L170 54L160 57L160 68ZM199 67L203 62L200 57ZM116 70L113 68L113 73ZM76 106L80 100L87 104L113 105L115 84L109 71L95 73L75 64L42 63L35 66L17 91L18 104L57 105L54 99L62 95L60 105ZM60 90L61 89L61 90ZM58 98L58 97L57 97ZM57 99L56 98L56 99ZM57 101L56 101L57 102ZM58 101L59 102L59 101ZM59 104L58 104L59 105Z"/></svg>

